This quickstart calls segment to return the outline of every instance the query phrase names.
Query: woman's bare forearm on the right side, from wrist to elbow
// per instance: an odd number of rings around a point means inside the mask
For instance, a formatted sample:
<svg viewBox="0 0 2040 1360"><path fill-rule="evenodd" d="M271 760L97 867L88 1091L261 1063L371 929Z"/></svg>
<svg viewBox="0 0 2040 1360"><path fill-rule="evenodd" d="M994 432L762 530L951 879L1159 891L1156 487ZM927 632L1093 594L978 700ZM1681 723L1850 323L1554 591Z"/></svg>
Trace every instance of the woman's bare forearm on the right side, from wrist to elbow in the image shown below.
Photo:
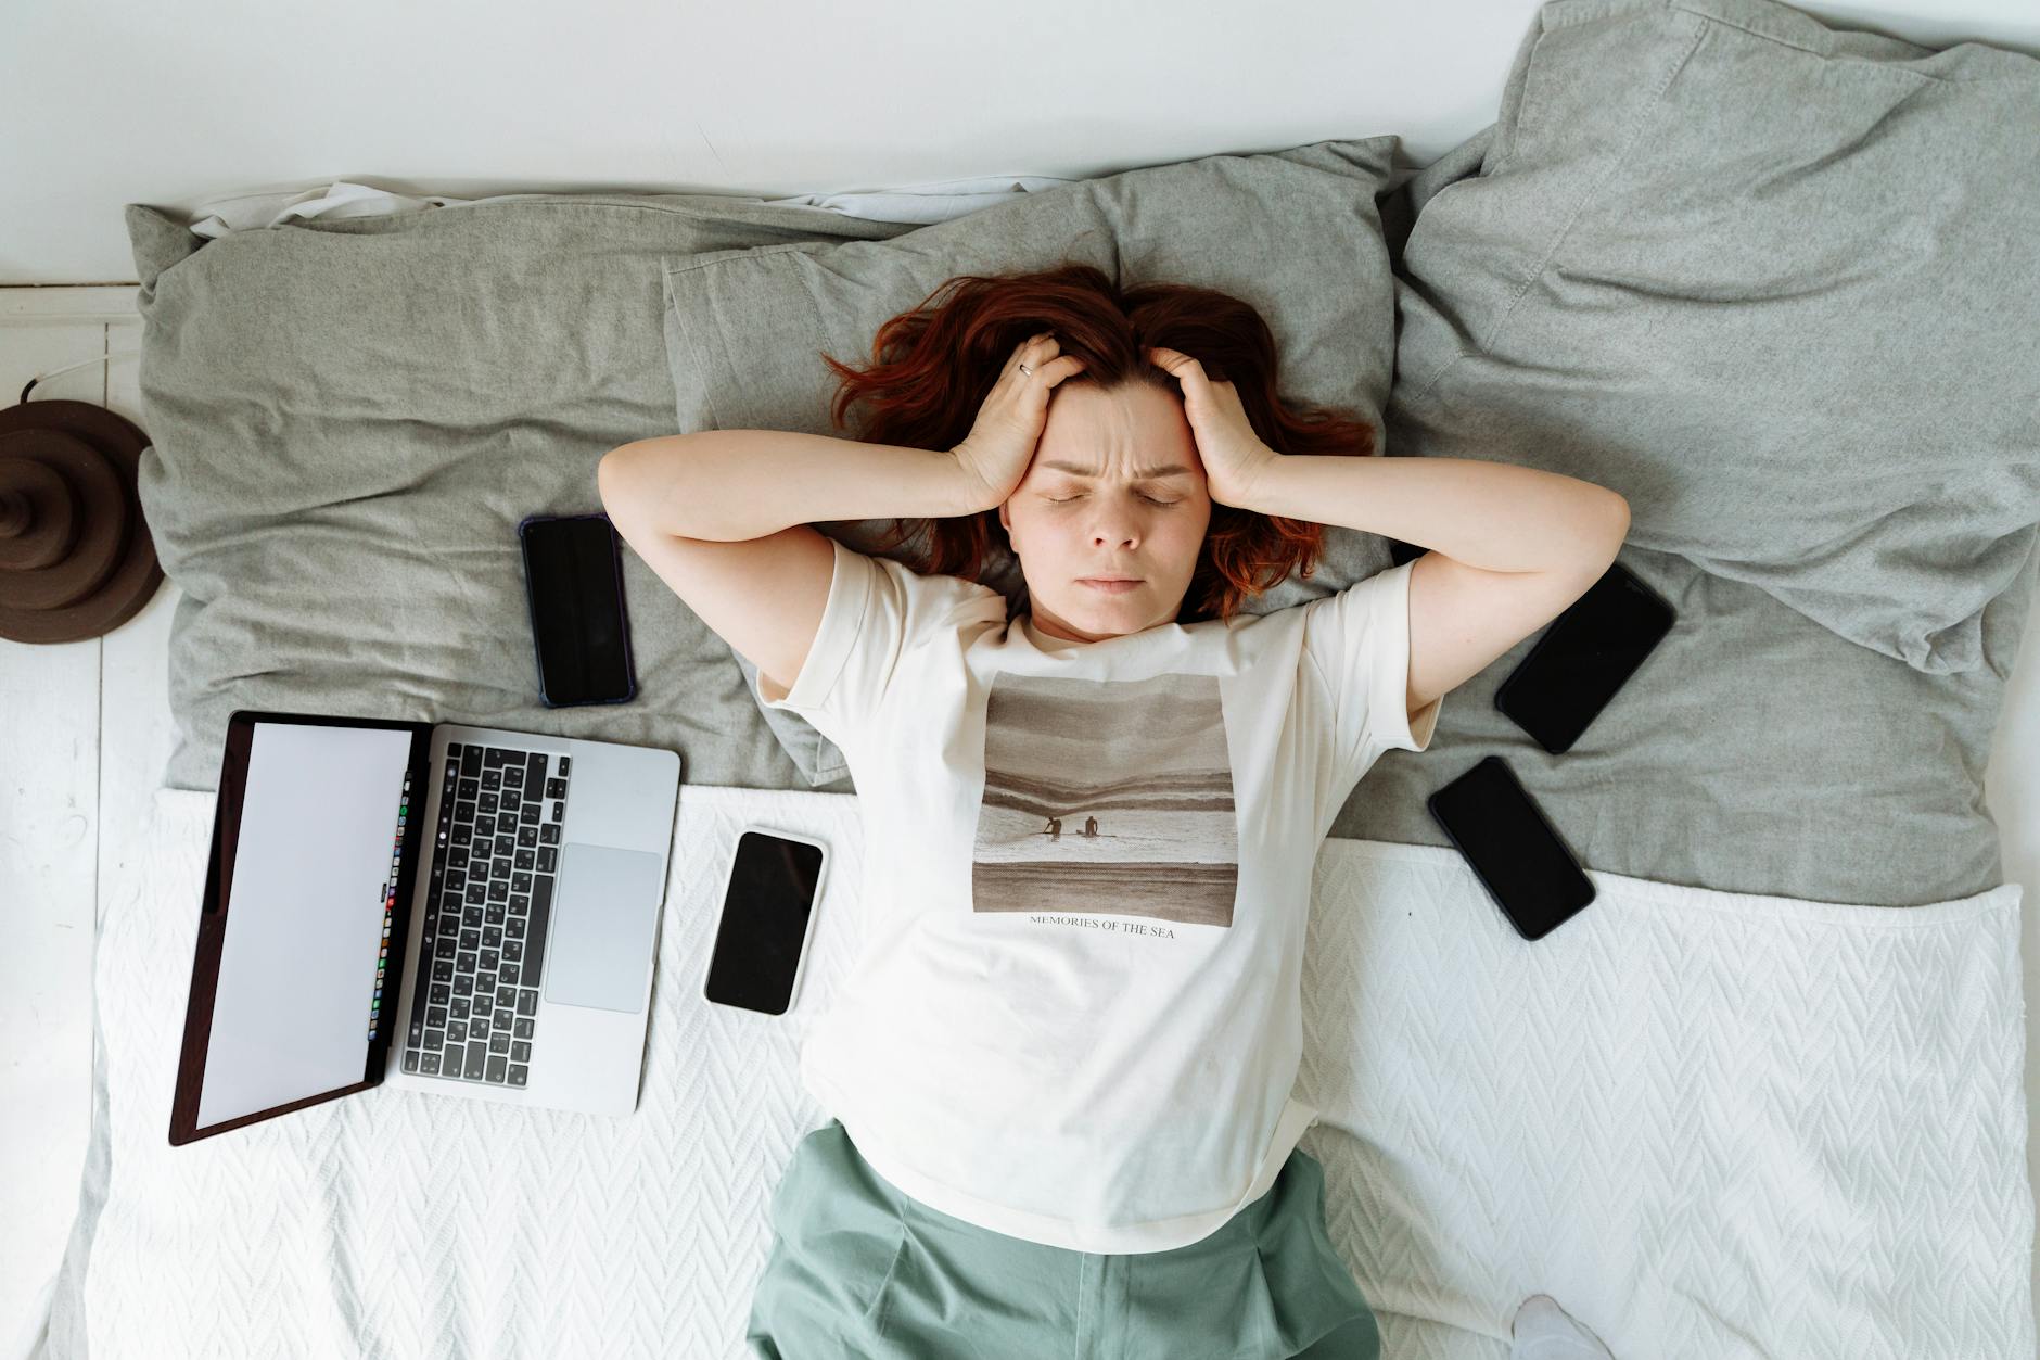
<svg viewBox="0 0 2040 1360"><path fill-rule="evenodd" d="M1489 572L1542 572L1612 557L1628 500L1595 482L1477 457L1283 453L1257 476L1248 511L1381 533Z"/></svg>

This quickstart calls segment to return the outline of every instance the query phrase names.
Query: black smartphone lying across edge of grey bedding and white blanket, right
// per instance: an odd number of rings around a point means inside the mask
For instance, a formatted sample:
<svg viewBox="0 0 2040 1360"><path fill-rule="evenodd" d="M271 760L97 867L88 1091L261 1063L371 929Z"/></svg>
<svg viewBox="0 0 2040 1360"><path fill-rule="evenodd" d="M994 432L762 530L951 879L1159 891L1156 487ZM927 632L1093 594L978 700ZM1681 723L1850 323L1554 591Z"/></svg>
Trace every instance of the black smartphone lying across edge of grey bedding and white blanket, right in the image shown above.
<svg viewBox="0 0 2040 1360"><path fill-rule="evenodd" d="M1593 901L1593 880L1499 756L1479 760L1426 805L1524 939L1542 939Z"/></svg>

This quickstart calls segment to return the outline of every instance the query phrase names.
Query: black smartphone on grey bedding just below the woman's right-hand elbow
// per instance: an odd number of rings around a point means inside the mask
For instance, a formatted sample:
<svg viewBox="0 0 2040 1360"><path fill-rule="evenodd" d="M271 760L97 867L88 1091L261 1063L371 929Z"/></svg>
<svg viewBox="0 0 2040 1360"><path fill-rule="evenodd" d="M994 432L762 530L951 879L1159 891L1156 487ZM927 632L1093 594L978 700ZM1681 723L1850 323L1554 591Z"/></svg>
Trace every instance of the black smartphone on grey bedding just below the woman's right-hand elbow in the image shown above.
<svg viewBox="0 0 2040 1360"><path fill-rule="evenodd" d="M1665 596L1620 562L1610 564L1495 688L1495 709L1552 756L1573 749L1673 619Z"/></svg>

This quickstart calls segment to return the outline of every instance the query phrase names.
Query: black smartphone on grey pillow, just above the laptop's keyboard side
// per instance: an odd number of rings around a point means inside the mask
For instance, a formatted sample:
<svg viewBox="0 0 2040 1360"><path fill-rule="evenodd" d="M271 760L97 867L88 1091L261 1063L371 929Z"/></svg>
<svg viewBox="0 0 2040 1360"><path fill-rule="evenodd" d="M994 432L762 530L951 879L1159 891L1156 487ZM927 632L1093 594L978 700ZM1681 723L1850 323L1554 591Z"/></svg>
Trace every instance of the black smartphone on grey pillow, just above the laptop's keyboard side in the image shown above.
<svg viewBox="0 0 2040 1360"><path fill-rule="evenodd" d="M516 527L547 709L636 694L622 549L608 515L532 515Z"/></svg>

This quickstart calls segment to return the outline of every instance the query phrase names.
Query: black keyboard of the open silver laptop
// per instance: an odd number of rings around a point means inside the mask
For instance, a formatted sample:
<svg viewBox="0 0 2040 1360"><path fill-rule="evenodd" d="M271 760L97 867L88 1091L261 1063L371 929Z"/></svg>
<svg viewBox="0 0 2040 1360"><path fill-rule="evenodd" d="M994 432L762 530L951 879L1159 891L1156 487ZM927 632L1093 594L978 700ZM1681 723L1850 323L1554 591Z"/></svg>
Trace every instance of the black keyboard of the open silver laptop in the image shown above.
<svg viewBox="0 0 2040 1360"><path fill-rule="evenodd" d="M569 758L447 745L404 1070L524 1086Z"/></svg>

